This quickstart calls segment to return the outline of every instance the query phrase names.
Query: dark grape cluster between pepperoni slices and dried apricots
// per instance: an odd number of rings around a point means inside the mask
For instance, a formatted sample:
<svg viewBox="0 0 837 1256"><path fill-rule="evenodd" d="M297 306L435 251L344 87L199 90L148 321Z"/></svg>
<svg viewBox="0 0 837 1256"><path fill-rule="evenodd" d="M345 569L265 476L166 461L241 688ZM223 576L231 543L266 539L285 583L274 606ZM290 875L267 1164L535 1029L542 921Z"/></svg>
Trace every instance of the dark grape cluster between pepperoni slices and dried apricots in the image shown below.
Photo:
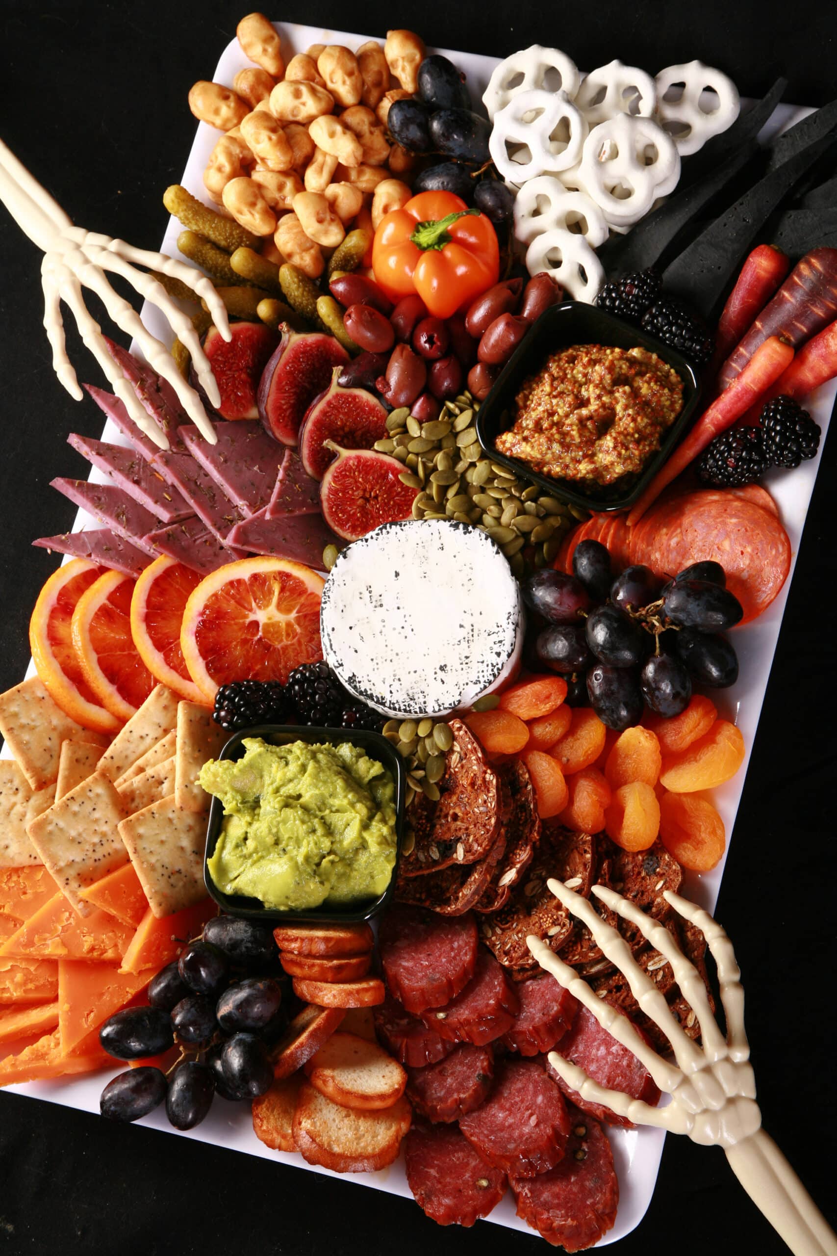
<svg viewBox="0 0 837 1256"><path fill-rule="evenodd" d="M572 575L541 570L523 584L542 622L537 662L566 676L566 701L590 705L609 728L639 723L644 706L671 718L694 682L725 688L738 678L735 651L720 634L743 610L725 584L714 561L668 582L642 565L614 575L607 549L581 541Z"/></svg>

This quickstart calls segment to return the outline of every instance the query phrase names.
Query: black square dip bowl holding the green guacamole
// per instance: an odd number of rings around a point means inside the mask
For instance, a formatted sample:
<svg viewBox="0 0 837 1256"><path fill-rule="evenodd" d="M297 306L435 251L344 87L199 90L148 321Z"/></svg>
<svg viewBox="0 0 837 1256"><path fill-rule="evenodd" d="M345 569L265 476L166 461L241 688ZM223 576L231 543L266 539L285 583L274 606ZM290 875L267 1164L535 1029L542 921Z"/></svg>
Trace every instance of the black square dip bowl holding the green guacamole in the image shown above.
<svg viewBox="0 0 837 1256"><path fill-rule="evenodd" d="M277 911L265 907L260 899L246 894L225 894L210 875L210 859L215 854L221 828L223 825L223 804L221 799L212 798L210 806L210 820L206 834L206 850L203 853L203 882L207 893L218 907L230 916L237 916L246 921L257 921L271 928L276 924L305 923L305 924L356 924L360 921L369 921L376 916L390 902L395 891L395 878L398 875L398 860L402 853L404 839L404 800L407 793L407 772L402 756L379 732L370 732L365 728L312 728L307 725L262 723L252 728L241 728L227 741L218 759L243 759L245 737L261 737L274 746L285 746L291 741L330 742L338 745L344 741L359 746L370 759L376 759L388 767L395 781L395 863L389 884L378 898L358 899L344 908L317 907L310 911Z"/></svg>

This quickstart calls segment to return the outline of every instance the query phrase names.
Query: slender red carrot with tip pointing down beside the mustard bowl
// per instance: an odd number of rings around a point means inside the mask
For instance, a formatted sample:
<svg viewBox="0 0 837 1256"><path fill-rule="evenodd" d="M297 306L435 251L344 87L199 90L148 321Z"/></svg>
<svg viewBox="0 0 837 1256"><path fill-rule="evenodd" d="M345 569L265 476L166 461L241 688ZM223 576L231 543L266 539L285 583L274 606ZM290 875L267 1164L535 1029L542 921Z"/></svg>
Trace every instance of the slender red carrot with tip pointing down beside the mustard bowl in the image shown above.
<svg viewBox="0 0 837 1256"><path fill-rule="evenodd" d="M793 360L793 349L778 335L769 337L747 363L729 388L704 411L681 445L651 480L650 485L627 516L629 526L639 522L653 501L666 485L696 458L709 442L740 418L750 406L760 401L764 392Z"/></svg>

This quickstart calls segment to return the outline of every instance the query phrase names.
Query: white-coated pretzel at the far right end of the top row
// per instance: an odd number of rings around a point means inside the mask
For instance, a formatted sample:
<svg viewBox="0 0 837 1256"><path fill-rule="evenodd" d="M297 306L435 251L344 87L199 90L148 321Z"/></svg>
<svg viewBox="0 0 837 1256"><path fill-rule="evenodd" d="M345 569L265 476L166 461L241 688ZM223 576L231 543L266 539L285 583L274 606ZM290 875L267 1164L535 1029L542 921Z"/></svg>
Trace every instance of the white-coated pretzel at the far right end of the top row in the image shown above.
<svg viewBox="0 0 837 1256"><path fill-rule="evenodd" d="M666 100L665 93L680 83L684 84L683 94L675 100ZM713 109L700 106L705 90L717 98ZM656 113L681 157L696 153L708 139L732 127L739 111L738 88L733 80L703 62L669 65L656 77Z"/></svg>

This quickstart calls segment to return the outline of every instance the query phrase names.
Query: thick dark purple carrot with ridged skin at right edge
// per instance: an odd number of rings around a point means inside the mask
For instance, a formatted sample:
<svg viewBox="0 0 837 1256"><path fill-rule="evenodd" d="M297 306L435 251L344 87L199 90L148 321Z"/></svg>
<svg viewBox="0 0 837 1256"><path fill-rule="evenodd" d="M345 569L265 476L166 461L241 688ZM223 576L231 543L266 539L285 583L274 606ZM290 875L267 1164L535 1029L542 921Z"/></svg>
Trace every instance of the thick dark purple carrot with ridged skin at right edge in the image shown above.
<svg viewBox="0 0 837 1256"><path fill-rule="evenodd" d="M837 249L813 249L798 261L718 372L722 392L747 365L759 344L781 335L798 349L837 315Z"/></svg>

